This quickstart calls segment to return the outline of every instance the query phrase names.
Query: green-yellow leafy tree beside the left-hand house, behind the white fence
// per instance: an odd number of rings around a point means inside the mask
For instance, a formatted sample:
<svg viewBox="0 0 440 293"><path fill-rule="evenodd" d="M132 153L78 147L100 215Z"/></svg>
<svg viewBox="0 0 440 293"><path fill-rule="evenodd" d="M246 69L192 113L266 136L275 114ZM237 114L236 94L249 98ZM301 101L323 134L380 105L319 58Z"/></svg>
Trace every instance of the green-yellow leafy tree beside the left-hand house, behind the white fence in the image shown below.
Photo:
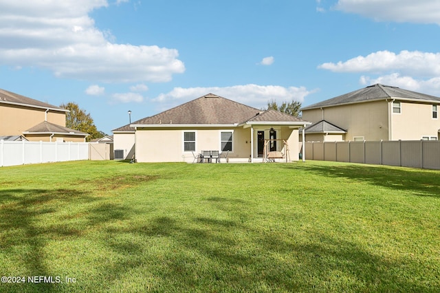
<svg viewBox="0 0 440 293"><path fill-rule="evenodd" d="M60 107L70 111L66 113L66 127L89 133L89 136L86 138L87 142L95 138L102 138L105 135L105 133L96 129L90 114L80 109L75 102L68 102L67 104L60 105Z"/></svg>

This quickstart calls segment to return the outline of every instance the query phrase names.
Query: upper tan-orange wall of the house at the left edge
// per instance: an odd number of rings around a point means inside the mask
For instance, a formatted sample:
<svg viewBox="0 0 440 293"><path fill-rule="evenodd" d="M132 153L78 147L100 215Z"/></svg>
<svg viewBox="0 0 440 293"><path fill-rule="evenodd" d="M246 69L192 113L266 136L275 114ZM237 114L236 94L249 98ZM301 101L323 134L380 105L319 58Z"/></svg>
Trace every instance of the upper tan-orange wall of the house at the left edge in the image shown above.
<svg viewBox="0 0 440 293"><path fill-rule="evenodd" d="M45 121L45 109L0 103L0 135L21 135L23 131ZM48 111L47 122L65 127L65 112Z"/></svg>

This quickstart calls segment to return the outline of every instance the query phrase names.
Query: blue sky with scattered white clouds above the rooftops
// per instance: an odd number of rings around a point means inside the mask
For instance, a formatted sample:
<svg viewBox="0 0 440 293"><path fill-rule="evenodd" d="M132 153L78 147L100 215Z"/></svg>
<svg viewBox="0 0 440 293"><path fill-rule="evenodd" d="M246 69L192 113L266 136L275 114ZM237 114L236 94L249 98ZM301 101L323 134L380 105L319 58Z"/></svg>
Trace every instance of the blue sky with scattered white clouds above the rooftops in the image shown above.
<svg viewBox="0 0 440 293"><path fill-rule="evenodd" d="M0 88L76 102L108 134L210 92L440 96L439 34L437 0L0 0Z"/></svg>

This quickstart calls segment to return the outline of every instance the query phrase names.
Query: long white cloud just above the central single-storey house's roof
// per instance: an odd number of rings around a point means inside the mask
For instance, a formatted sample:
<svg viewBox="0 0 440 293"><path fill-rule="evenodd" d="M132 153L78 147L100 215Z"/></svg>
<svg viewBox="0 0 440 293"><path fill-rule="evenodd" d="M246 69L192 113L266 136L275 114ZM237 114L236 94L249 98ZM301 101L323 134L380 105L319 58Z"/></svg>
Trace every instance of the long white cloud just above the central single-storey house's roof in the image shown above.
<svg viewBox="0 0 440 293"><path fill-rule="evenodd" d="M297 100L303 102L305 96L316 92L307 90L305 87L281 87L279 85L234 85L232 87L175 87L166 94L160 94L153 99L155 102L163 103L162 109L169 109L188 102L209 93L241 102L245 105L261 109L267 106L267 101L276 102Z"/></svg>

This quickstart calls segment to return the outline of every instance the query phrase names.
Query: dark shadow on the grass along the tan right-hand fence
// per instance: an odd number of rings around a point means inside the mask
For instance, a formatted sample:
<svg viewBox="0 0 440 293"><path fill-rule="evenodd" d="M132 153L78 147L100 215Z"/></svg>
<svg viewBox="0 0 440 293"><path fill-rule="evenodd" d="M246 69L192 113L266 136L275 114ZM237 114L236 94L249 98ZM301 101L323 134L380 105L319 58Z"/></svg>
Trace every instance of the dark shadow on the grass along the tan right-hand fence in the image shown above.
<svg viewBox="0 0 440 293"><path fill-rule="evenodd" d="M373 186L410 191L413 195L440 198L440 172L418 169L391 168L371 165L295 165L284 164L283 168L303 170L326 177L342 177Z"/></svg>

